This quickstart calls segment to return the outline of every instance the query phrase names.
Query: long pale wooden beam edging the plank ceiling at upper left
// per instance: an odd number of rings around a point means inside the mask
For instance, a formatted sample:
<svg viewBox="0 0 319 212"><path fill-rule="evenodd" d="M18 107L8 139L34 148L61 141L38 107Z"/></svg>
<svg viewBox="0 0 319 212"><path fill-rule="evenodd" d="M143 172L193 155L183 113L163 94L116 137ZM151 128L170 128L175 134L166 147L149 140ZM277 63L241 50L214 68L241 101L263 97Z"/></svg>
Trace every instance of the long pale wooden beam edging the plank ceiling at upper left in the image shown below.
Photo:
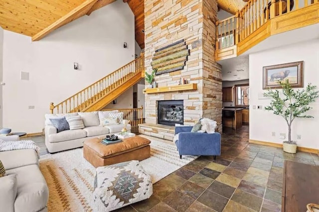
<svg viewBox="0 0 319 212"><path fill-rule="evenodd" d="M50 32L54 31L55 29L85 15L91 8L92 6L97 2L97 0L86 0L79 6L75 7L72 9L70 12L56 20L54 23L49 25L48 27L44 28L37 34L35 34L32 37L32 41L38 41L42 39L44 36L48 35Z"/></svg>

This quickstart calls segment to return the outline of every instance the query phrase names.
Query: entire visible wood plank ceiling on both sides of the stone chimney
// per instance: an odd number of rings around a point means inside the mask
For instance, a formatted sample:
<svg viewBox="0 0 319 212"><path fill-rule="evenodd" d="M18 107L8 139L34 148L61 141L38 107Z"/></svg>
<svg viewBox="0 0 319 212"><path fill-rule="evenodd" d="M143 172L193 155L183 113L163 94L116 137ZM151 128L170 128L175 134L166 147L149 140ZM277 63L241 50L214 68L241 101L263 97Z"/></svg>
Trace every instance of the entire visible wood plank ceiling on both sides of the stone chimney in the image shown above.
<svg viewBox="0 0 319 212"><path fill-rule="evenodd" d="M37 41L53 30L115 0L1 0L0 26ZM135 16L135 40L144 49L144 0L123 0ZM235 14L243 0L217 0L218 7Z"/></svg>

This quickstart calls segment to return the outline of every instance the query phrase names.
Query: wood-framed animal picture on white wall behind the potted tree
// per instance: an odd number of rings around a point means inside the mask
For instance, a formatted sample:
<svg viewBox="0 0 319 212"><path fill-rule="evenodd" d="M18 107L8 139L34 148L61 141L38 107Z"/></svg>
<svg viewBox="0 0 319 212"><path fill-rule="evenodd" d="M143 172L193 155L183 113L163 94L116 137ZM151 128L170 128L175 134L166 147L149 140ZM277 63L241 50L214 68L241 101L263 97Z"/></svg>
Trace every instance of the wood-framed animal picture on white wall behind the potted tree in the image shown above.
<svg viewBox="0 0 319 212"><path fill-rule="evenodd" d="M288 79L292 87L304 87L304 61L263 67L263 89L281 88Z"/></svg>

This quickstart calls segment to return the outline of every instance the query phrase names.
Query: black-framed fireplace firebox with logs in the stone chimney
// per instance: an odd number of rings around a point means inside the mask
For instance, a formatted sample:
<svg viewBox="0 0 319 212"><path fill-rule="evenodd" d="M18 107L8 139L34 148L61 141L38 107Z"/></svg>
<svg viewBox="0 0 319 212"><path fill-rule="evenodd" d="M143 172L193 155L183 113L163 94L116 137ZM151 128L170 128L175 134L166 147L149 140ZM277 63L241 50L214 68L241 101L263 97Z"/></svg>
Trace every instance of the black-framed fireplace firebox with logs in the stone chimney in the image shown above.
<svg viewBox="0 0 319 212"><path fill-rule="evenodd" d="M184 122L183 100L158 101L158 123L175 126Z"/></svg>

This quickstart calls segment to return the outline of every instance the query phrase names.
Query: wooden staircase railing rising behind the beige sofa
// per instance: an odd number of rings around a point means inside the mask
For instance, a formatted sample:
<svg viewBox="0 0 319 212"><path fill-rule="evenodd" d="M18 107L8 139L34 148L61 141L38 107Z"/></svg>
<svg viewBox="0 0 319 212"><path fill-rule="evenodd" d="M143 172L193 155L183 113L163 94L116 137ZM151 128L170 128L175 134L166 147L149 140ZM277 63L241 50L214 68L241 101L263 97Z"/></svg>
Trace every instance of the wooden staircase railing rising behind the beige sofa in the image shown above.
<svg viewBox="0 0 319 212"><path fill-rule="evenodd" d="M51 102L50 112L53 114L83 111L92 103L103 98L107 93L117 89L123 83L130 80L135 74L142 72L144 69L144 53L142 53L139 58L94 82L61 103L54 105L53 102Z"/></svg>

